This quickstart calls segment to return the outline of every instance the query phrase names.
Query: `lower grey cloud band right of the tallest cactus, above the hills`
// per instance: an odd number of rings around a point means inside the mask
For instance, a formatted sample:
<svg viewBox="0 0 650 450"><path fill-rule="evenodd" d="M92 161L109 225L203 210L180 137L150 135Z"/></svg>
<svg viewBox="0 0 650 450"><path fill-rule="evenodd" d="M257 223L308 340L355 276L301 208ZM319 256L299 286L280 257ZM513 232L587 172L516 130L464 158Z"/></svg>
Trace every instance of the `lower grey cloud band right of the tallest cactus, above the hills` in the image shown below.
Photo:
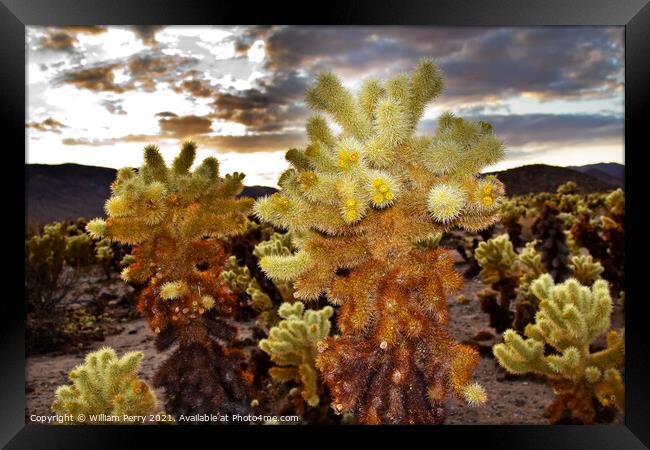
<svg viewBox="0 0 650 450"><path fill-rule="evenodd" d="M506 146L520 147L540 143L594 144L623 140L623 119L612 115L519 114L467 118L491 123L495 135ZM432 133L435 127L435 120L424 120L418 130Z"/></svg>

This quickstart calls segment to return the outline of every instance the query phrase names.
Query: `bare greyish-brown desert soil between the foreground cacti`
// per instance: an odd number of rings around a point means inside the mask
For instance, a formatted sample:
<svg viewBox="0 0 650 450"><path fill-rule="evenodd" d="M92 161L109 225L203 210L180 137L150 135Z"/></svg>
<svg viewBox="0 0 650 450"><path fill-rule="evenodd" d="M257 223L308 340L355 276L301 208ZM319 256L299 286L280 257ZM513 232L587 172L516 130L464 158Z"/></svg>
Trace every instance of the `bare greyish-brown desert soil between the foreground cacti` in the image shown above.
<svg viewBox="0 0 650 450"><path fill-rule="evenodd" d="M456 268L464 270L457 255ZM494 329L488 325L488 316L481 312L476 293L484 288L478 278L465 280L459 294L470 300L460 304L456 296L450 296L449 327L451 334L460 342L479 345L481 358L474 372L474 378L481 383L488 393L488 403L480 408L470 408L451 398L447 405L447 424L548 424L545 410L553 401L554 394L543 379L533 376L515 377L506 375L491 355L490 348L500 341ZM614 327L622 327L623 308L615 306ZM473 338L481 334L480 341ZM155 369L167 355L154 348L153 334L149 331L145 319L137 319L124 324L120 334L109 336L103 342L93 343L90 350L104 345L115 348L119 355L131 350L144 352L141 376L151 382ZM54 390L58 385L67 383L67 373L83 361L86 350L65 355L39 355L27 358L26 363L26 420L31 414L47 415L54 400ZM162 392L158 391L162 399ZM163 409L161 407L160 409ZM616 423L623 423L624 416L619 414Z"/></svg>

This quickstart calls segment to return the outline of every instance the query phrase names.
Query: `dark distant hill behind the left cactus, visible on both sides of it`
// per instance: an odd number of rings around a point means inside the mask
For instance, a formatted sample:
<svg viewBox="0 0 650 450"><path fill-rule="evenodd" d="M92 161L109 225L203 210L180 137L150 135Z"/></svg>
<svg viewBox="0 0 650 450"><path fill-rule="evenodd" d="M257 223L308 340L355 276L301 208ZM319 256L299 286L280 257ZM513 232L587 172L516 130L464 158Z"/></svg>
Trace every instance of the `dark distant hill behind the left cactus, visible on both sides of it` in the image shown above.
<svg viewBox="0 0 650 450"><path fill-rule="evenodd" d="M27 223L104 216L115 174L115 169L79 164L25 165ZM241 196L258 198L276 191L268 186L246 186Z"/></svg>

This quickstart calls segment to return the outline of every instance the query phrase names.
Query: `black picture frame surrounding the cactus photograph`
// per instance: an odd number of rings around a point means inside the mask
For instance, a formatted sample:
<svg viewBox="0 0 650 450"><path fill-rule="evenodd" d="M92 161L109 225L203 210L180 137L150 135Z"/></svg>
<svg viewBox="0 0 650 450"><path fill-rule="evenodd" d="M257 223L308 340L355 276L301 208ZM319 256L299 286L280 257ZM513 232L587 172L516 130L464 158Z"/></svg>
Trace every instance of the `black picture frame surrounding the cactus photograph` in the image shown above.
<svg viewBox="0 0 650 450"><path fill-rule="evenodd" d="M28 25L156 25L156 24L349 24L349 25L437 25L437 26L624 26L625 27L625 188L627 197L626 257L629 274L625 304L626 322L626 411L624 425L592 426L446 426L446 427L164 427L164 426L86 426L52 427L25 424L24 321L19 275L6 279L3 299L0 357L0 443L6 448L125 448L152 446L160 440L163 448L188 445L191 438L206 440L210 446L234 448L345 447L351 439L379 440L395 445L480 445L499 449L636 449L650 446L650 350L644 334L647 324L647 296L641 288L641 275L647 261L649 225L644 220L648 206L646 170L640 152L647 146L646 128L650 118L650 5L648 0L329 0L318 3L155 1L155 0L2 0L0 5L0 110L6 137L18 143L7 146L3 154L3 192L13 194L16 181L11 158L19 158L17 148L25 132L25 26ZM637 148L638 147L638 148ZM16 171L17 173L17 171ZM647 175L646 175L647 176ZM23 183L24 186L24 183ZM645 189L644 189L645 188ZM646 195L644 195L646 194ZM0 194L2 196L3 194ZM12 198L13 198L12 197ZM6 203L6 202L5 202ZM2 203L0 203L2 204ZM5 221L20 213L8 204ZM23 203L24 207L24 203ZM19 231L15 229L6 233ZM8 253L21 252L20 239L4 239L5 262ZM645 245L644 245L645 244ZM23 249L24 251L24 249ZM645 257L645 258L644 258ZM17 257L16 257L17 258ZM634 261L640 261L635 264ZM17 265L18 266L18 265ZM13 293L11 293L13 292ZM203 436L194 436L195 434ZM414 436L413 433L418 434ZM353 436L354 435L354 436ZM293 441L296 439L295 441ZM290 441L289 441L290 440ZM259 441L256 444L253 442ZM288 442L294 442L294 445ZM149 445L147 445L149 444ZM159 444L160 445L160 444ZM357 444L359 445L359 444ZM366 444L367 445L367 444Z"/></svg>

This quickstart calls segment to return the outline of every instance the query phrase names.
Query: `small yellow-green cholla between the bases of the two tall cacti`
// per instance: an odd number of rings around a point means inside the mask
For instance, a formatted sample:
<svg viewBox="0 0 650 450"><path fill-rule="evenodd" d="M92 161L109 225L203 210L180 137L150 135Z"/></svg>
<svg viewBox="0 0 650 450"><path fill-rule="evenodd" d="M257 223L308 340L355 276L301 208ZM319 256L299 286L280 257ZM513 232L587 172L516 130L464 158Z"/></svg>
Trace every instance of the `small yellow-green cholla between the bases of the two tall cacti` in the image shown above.
<svg viewBox="0 0 650 450"><path fill-rule="evenodd" d="M302 398L310 406L320 402L318 372L316 371L317 343L329 336L331 306L319 311L305 310L302 302L283 303L278 310L280 323L271 328L268 339L259 347L271 355L278 366L269 370L277 381L295 381L302 384Z"/></svg>

